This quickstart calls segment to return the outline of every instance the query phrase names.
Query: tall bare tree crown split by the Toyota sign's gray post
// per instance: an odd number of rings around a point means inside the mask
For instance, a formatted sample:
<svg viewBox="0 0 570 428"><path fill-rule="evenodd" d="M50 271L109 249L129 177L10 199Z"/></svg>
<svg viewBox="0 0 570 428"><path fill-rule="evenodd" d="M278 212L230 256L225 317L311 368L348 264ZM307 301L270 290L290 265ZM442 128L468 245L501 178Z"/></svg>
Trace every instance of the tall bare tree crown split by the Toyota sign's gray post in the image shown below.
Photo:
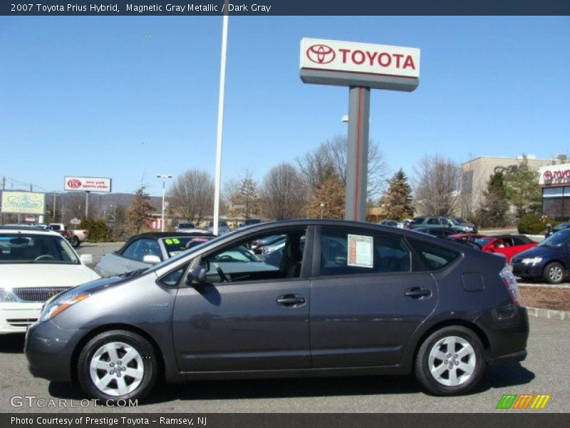
<svg viewBox="0 0 570 428"><path fill-rule="evenodd" d="M348 138L335 136L321 143L314 151L302 158L297 158L301 173L313 190L320 189L323 181L330 175L332 168L344 186L346 186L346 158L348 154ZM386 163L378 144L370 141L368 145L368 198L378 198L385 188L388 176Z"/></svg>

